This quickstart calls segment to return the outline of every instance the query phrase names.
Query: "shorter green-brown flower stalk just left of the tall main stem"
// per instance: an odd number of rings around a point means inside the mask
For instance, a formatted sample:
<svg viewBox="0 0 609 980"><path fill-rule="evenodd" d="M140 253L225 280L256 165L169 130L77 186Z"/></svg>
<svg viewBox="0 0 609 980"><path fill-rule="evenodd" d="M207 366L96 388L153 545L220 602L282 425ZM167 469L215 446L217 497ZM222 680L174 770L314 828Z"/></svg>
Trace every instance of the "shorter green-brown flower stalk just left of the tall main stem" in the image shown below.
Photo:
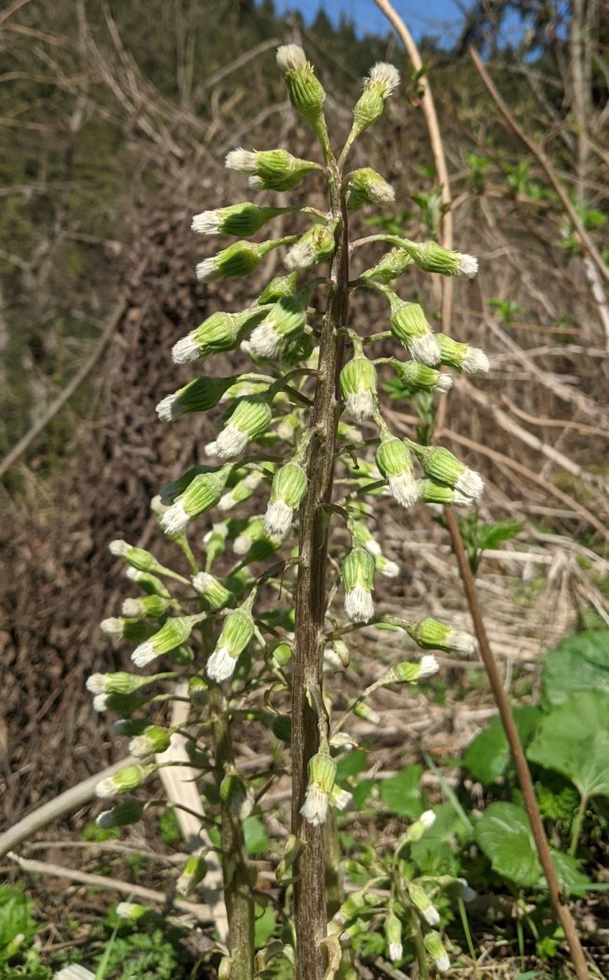
<svg viewBox="0 0 609 980"><path fill-rule="evenodd" d="M227 767L234 764L234 754L227 706L219 687L214 687L210 693L210 708L214 712L216 779L220 786ZM253 980L253 884L247 863L243 827L230 809L230 804L224 800L221 802L221 818L222 870L228 914L228 947L232 960L230 975L239 980Z"/></svg>

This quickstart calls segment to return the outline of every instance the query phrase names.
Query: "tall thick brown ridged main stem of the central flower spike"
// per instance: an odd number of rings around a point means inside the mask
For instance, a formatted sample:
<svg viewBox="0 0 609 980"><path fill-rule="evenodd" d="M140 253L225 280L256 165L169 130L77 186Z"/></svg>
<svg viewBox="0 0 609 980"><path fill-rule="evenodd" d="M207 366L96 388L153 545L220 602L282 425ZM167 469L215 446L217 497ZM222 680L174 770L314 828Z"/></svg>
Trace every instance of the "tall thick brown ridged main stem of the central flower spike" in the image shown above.
<svg viewBox="0 0 609 980"><path fill-rule="evenodd" d="M330 182L331 210L342 218L330 270L328 310L320 342L320 369L311 427L309 489L302 506L296 585L295 650L292 674L292 832L305 847L298 859L294 886L296 918L296 980L322 980L325 972L320 940L326 935L324 827L314 827L300 815L307 789L307 766L318 750L316 711L307 694L321 686L326 617L326 565L328 520L324 504L330 502L334 473L334 444L339 416L338 373L342 357L339 327L346 325L348 239L346 209L340 199L340 177Z"/></svg>

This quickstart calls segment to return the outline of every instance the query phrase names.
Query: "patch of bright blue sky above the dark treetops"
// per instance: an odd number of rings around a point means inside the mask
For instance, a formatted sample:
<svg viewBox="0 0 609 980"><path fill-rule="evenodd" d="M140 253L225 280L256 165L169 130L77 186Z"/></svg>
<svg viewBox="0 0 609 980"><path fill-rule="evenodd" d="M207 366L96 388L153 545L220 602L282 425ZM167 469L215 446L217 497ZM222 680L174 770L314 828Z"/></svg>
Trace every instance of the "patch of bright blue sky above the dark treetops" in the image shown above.
<svg viewBox="0 0 609 980"><path fill-rule="evenodd" d="M299 10L306 21L315 17L323 6L334 21L344 13L363 31L386 34L389 29L374 0L326 0L325 3L321 0L275 0L275 6L278 13ZM424 4L415 0L395 0L394 6L417 39L422 34L445 35L446 45L442 46L449 47L459 34L459 25L463 21L462 5L455 0L428 0Z"/></svg>

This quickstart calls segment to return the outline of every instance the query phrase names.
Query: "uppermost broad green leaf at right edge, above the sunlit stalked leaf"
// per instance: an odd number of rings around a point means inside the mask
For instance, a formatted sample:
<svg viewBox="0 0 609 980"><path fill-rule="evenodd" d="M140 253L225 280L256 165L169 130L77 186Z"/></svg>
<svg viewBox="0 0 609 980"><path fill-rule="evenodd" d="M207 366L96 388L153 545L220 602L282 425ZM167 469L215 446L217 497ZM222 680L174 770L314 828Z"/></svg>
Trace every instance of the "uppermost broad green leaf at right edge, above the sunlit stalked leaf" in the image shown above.
<svg viewBox="0 0 609 980"><path fill-rule="evenodd" d="M609 630L579 633L547 654L541 686L546 707L580 691L609 694Z"/></svg>

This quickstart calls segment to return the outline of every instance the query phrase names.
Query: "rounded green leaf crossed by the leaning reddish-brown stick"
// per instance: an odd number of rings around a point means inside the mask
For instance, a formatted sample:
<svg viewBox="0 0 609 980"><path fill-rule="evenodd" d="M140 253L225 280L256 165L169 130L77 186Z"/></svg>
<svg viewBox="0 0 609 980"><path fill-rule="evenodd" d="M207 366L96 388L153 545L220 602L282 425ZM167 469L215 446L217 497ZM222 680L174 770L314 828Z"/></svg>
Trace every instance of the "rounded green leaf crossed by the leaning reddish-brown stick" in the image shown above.
<svg viewBox="0 0 609 980"><path fill-rule="evenodd" d="M476 839L497 874L525 888L547 888L524 809L513 803L491 803L478 821ZM559 881L567 891L589 882L576 858L554 849L551 853Z"/></svg>

